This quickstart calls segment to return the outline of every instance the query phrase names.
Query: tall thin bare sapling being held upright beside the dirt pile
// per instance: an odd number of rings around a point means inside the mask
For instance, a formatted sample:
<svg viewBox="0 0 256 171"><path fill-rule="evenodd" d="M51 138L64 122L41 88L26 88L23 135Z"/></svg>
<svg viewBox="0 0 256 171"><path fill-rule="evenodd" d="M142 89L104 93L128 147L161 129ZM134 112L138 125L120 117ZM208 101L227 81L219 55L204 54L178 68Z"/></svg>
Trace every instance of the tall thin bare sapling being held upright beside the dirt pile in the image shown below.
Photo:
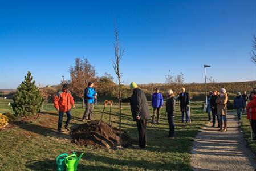
<svg viewBox="0 0 256 171"><path fill-rule="evenodd" d="M119 146L121 146L121 74L120 74L120 60L123 58L124 49L119 44L119 33L115 27L115 60L113 60L113 68L118 78L118 99L119 99Z"/></svg>

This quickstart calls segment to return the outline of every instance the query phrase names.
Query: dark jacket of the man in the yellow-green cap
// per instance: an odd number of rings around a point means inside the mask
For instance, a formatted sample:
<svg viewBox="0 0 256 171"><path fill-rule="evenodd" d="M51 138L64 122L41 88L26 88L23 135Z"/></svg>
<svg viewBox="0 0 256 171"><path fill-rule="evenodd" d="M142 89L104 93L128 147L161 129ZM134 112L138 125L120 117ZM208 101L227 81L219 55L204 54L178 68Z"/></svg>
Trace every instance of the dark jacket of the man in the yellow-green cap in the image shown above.
<svg viewBox="0 0 256 171"><path fill-rule="evenodd" d="M139 116L140 119L150 118L148 101L145 96L145 93L141 89L139 88L134 89L131 97L130 105L131 105L133 121L137 121L136 116Z"/></svg>

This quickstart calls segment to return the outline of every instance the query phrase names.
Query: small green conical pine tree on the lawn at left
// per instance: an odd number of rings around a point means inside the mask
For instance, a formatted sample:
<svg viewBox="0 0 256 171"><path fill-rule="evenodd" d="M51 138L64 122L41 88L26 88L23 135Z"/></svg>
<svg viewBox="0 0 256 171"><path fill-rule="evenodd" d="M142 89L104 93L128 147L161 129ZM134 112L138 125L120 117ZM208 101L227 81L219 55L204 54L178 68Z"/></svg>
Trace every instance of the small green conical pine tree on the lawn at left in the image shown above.
<svg viewBox="0 0 256 171"><path fill-rule="evenodd" d="M17 88L11 103L15 116L32 116L40 111L43 97L32 79L31 72L28 71L25 80Z"/></svg>

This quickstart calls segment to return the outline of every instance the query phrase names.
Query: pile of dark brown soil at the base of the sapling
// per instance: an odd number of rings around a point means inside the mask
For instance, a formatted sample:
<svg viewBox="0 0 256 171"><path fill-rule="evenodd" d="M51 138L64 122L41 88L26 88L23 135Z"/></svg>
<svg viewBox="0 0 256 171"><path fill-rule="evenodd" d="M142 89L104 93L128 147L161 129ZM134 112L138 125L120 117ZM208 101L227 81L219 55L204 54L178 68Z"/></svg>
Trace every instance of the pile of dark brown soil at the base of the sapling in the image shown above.
<svg viewBox="0 0 256 171"><path fill-rule="evenodd" d="M88 121L79 125L72 130L72 137L75 144L92 145L96 147L104 146L105 148L115 148L119 145L119 130L109 126L104 121L99 120ZM123 147L132 146L137 143L131 139L126 132L121 131L121 145Z"/></svg>

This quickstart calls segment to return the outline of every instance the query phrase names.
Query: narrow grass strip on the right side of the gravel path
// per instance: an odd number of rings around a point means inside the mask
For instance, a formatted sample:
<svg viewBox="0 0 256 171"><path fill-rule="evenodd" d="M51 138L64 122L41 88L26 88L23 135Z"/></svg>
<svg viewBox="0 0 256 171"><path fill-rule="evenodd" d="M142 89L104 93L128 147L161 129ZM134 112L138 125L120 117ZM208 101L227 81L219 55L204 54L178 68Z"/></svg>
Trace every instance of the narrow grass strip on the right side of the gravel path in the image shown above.
<svg viewBox="0 0 256 171"><path fill-rule="evenodd" d="M241 119L241 127L243 130L243 136L245 137L245 140L247 141L247 145L251 149L251 151L256 155L256 141L251 140L251 132L250 132L250 121L247 119L247 116L243 113L242 119ZM254 137L254 133L253 133Z"/></svg>

